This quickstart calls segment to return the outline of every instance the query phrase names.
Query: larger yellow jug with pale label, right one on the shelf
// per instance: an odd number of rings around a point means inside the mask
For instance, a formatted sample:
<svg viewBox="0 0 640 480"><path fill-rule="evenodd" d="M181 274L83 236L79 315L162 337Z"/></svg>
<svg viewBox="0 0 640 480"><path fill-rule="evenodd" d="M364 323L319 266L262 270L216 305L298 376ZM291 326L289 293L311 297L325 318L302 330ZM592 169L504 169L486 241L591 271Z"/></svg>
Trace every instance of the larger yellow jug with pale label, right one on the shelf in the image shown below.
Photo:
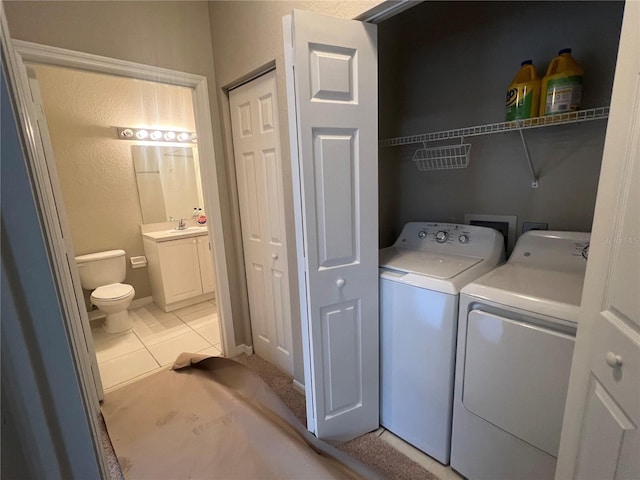
<svg viewBox="0 0 640 480"><path fill-rule="evenodd" d="M571 56L571 49L560 50L542 79L540 116L578 110L583 76L584 70Z"/></svg>

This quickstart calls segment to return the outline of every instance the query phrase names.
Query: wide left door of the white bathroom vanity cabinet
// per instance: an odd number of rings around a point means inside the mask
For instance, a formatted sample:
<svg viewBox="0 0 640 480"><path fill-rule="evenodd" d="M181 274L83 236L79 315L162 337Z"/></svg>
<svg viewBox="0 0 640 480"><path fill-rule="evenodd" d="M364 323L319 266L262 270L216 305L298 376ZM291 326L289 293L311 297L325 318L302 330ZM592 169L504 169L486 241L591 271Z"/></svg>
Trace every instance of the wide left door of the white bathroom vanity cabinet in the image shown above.
<svg viewBox="0 0 640 480"><path fill-rule="evenodd" d="M200 262L195 238L158 243L162 286L167 303L200 295Z"/></svg>

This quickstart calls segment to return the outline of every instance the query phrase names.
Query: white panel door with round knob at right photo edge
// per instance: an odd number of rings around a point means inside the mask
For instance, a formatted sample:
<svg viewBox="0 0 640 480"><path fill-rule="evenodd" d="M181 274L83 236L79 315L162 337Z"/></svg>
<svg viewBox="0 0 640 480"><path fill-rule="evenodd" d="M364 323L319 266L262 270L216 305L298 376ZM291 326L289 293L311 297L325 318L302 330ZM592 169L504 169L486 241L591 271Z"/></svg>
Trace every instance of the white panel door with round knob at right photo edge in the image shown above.
<svg viewBox="0 0 640 480"><path fill-rule="evenodd" d="M640 2L627 2L557 479L640 478Z"/></svg>

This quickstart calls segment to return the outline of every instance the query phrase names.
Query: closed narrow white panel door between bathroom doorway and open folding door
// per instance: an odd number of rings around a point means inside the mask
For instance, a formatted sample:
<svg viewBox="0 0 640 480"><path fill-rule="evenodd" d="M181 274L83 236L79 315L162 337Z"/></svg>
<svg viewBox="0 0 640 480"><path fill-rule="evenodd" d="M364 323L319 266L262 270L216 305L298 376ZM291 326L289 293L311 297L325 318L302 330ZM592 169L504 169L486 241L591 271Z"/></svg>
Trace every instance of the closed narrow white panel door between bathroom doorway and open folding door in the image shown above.
<svg viewBox="0 0 640 480"><path fill-rule="evenodd" d="M293 375L276 72L229 92L255 352Z"/></svg>

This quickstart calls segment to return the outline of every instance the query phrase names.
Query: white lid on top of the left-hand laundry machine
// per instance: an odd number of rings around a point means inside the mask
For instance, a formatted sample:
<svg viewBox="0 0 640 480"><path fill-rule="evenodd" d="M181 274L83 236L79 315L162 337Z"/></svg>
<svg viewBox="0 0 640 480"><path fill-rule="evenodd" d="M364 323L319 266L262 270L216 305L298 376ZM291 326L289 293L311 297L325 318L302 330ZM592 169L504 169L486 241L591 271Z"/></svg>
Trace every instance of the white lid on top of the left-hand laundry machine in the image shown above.
<svg viewBox="0 0 640 480"><path fill-rule="evenodd" d="M481 258L389 247L380 250L380 267L434 278L453 278L480 263Z"/></svg>

